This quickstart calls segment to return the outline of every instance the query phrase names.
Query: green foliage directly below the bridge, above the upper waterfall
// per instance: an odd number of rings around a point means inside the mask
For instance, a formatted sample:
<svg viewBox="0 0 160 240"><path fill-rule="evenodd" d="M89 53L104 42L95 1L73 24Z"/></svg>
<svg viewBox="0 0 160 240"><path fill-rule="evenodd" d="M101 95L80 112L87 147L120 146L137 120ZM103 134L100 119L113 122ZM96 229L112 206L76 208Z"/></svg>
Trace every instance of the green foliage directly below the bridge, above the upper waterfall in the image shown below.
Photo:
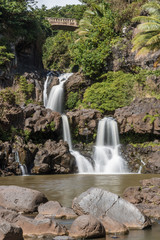
<svg viewBox="0 0 160 240"><path fill-rule="evenodd" d="M59 31L56 36L47 38L43 46L44 67L58 71L68 68L71 59L68 46L71 42L72 32Z"/></svg>

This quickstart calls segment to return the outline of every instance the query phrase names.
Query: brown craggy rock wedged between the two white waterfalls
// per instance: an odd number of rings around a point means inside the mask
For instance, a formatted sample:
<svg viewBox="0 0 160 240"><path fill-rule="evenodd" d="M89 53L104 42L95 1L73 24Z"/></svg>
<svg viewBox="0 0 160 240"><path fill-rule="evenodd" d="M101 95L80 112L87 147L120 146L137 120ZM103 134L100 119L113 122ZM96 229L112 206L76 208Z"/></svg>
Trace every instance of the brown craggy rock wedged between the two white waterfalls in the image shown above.
<svg viewBox="0 0 160 240"><path fill-rule="evenodd" d="M93 141L93 135L97 131L98 122L102 118L102 114L99 111L94 109L73 110L72 112L67 112L66 115L74 139L79 137L83 140Z"/></svg>

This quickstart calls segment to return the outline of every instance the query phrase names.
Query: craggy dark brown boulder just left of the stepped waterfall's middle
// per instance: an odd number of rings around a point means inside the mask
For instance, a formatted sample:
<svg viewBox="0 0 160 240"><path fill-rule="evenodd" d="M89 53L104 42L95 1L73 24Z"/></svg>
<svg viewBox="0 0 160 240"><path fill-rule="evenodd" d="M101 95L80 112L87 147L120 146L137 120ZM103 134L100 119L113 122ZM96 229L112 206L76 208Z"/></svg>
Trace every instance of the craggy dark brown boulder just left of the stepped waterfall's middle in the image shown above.
<svg viewBox="0 0 160 240"><path fill-rule="evenodd" d="M45 109L42 106L29 104L24 108L24 131L32 139L60 139L62 135L62 120L58 112Z"/></svg>

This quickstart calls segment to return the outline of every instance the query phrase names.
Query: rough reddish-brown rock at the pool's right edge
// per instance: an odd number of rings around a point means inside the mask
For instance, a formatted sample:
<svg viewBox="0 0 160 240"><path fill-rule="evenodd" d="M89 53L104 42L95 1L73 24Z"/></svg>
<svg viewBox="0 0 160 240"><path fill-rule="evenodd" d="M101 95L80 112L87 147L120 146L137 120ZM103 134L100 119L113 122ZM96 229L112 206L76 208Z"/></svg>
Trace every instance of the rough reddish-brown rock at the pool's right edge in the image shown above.
<svg viewBox="0 0 160 240"><path fill-rule="evenodd" d="M123 197L135 204L146 216L160 219L160 178L140 182L141 186L127 188Z"/></svg>

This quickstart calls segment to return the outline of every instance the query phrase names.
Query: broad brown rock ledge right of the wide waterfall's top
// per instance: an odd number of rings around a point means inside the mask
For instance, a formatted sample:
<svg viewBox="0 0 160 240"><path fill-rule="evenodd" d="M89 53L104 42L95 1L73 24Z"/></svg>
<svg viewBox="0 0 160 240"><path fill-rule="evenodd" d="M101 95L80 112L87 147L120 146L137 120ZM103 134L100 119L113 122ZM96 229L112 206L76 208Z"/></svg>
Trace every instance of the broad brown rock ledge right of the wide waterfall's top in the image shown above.
<svg viewBox="0 0 160 240"><path fill-rule="evenodd" d="M156 98L136 99L129 106L116 109L120 133L160 135L160 100Z"/></svg>

